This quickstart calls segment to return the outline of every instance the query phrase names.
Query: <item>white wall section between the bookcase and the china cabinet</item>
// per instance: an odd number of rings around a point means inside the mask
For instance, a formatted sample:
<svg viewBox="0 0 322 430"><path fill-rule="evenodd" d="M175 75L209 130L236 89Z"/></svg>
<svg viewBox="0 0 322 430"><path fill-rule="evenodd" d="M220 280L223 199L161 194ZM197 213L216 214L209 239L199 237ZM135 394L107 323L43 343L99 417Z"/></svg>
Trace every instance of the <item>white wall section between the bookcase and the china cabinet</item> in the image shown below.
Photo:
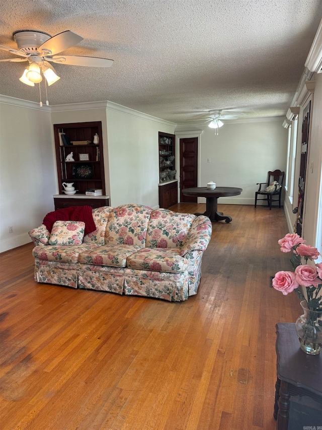
<svg viewBox="0 0 322 430"><path fill-rule="evenodd" d="M107 109L112 206L158 207L158 132L174 133L174 125L168 124L135 111Z"/></svg>

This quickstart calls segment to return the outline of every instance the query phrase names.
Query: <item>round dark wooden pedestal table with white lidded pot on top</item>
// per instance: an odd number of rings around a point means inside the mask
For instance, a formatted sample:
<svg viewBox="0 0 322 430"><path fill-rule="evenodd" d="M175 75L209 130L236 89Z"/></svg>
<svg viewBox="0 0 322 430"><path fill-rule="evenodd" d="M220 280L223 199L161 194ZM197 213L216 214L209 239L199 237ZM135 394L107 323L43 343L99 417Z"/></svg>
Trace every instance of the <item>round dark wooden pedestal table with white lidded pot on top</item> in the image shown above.
<svg viewBox="0 0 322 430"><path fill-rule="evenodd" d="M223 221L230 222L230 216L224 216L222 212L217 211L217 200L219 197L238 196L243 189L234 187L216 187L214 190L209 190L207 187L185 188L182 193L185 196L205 197L206 198L206 212L196 213L195 215L205 215L210 218L210 221Z"/></svg>

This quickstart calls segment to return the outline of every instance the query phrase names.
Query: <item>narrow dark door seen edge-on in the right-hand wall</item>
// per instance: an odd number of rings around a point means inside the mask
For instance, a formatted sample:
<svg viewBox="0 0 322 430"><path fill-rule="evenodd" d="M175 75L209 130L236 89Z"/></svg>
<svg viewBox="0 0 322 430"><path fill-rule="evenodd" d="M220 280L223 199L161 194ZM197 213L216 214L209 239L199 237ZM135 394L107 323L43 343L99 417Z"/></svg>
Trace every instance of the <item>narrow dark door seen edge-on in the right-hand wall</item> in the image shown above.
<svg viewBox="0 0 322 430"><path fill-rule="evenodd" d="M303 122L302 122L301 161L300 161L300 175L298 179L298 204L297 204L297 216L296 216L296 225L295 225L296 233L299 236L302 235L305 176L306 176L306 164L307 164L308 135L309 135L309 125L310 125L310 108L311 108L311 102L309 102L304 108Z"/></svg>

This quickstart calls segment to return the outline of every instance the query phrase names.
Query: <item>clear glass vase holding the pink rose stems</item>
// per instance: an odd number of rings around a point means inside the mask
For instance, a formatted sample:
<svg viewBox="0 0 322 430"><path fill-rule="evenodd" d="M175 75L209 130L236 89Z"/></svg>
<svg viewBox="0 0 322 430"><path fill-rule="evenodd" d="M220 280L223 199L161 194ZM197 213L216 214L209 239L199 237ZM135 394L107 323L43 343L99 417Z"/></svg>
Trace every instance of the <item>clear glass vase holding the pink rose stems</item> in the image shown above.
<svg viewBox="0 0 322 430"><path fill-rule="evenodd" d="M301 306L304 314L295 323L300 348L306 354L317 355L322 346L322 311L311 311L305 300Z"/></svg>

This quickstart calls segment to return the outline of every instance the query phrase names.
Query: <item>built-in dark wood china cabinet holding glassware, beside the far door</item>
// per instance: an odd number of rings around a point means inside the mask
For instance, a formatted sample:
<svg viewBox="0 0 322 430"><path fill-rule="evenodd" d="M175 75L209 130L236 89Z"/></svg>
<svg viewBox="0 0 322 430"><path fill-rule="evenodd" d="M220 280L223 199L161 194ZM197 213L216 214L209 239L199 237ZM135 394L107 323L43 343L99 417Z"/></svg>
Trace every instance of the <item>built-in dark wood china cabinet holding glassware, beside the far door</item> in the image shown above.
<svg viewBox="0 0 322 430"><path fill-rule="evenodd" d="M159 150L159 206L169 208L178 203L178 179L176 179L176 137L158 133Z"/></svg>

